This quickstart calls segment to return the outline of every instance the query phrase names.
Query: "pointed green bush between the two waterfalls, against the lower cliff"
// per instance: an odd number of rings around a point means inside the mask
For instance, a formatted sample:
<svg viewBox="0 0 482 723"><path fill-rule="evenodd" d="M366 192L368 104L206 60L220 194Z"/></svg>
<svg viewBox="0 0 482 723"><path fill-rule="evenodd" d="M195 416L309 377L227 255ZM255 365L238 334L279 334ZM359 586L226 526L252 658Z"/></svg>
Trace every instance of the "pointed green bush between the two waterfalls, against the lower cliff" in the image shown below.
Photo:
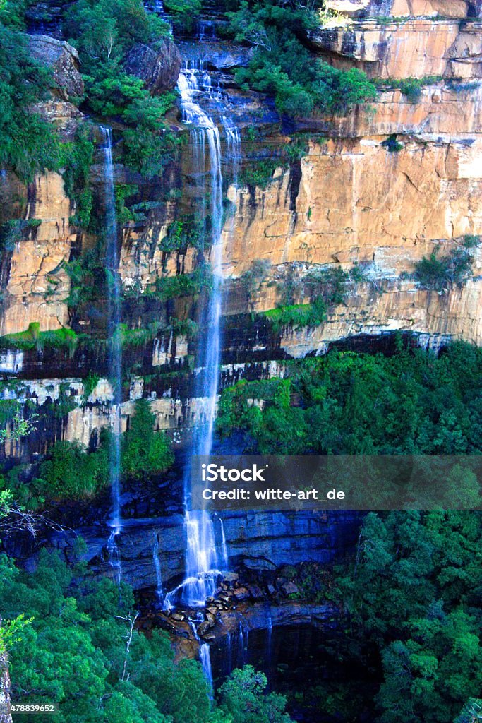
<svg viewBox="0 0 482 723"><path fill-rule="evenodd" d="M173 463L171 443L164 432L155 432L155 416L147 399L135 403L129 430L122 437L122 474L134 479L160 474Z"/></svg>

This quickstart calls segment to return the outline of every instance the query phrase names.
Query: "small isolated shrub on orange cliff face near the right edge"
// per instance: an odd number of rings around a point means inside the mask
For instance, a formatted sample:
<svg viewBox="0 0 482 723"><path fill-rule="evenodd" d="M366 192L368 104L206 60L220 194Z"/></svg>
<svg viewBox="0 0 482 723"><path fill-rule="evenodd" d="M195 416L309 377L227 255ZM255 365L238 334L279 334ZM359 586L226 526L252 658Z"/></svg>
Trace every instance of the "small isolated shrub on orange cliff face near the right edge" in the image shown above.
<svg viewBox="0 0 482 723"><path fill-rule="evenodd" d="M472 275L473 256L466 249L452 249L438 257L436 251L416 262L415 278L423 288L443 291L455 284L463 286Z"/></svg>

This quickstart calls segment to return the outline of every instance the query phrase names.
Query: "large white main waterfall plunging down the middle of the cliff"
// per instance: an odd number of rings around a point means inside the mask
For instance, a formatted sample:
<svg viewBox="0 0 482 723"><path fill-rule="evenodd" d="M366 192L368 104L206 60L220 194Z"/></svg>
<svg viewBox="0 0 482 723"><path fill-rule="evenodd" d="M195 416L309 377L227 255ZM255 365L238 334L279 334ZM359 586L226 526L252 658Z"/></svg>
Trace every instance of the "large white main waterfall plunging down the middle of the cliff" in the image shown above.
<svg viewBox="0 0 482 723"><path fill-rule="evenodd" d="M199 82L200 80L200 82ZM184 64L178 78L178 90L181 95L183 120L193 126L191 144L193 147L194 172L199 179L201 203L204 211L204 199L210 199L210 262L212 265L212 291L205 310L205 335L199 345L199 358L202 371L198 375L197 395L207 398L206 424L197 429L194 441L194 453L210 454L214 430L215 406L218 395L218 375L220 364L220 320L222 308L222 263L223 249L221 234L223 231L223 174L221 158L220 132L212 117L199 106L197 100L205 97L211 103L220 104L222 96L210 75L205 72L202 61L197 64ZM223 123L223 125L225 125ZM230 126L227 134L229 147L234 147L234 139L239 134ZM231 140L230 140L231 139ZM231 144L231 145L230 145ZM206 155L209 153L209 164ZM206 184L206 166L209 171L209 184ZM207 187L205 187L205 184ZM188 482L185 479L185 526L186 526L186 577L175 590L168 593L165 605L171 609L177 602L188 607L202 607L206 598L212 596L220 575L218 569L218 551L216 549L214 526L206 510L190 510Z"/></svg>

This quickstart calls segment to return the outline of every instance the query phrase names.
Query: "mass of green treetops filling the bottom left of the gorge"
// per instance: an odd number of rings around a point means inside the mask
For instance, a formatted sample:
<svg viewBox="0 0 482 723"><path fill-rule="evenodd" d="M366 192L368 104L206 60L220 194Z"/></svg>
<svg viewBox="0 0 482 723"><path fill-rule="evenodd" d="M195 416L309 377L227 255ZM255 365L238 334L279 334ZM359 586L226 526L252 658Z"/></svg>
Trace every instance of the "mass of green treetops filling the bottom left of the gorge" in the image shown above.
<svg viewBox="0 0 482 723"><path fill-rule="evenodd" d="M137 630L132 589L85 573L45 550L34 573L0 555L0 644L14 700L58 701L59 723L291 723L283 696L266 693L251 667L233 672L220 706L210 701L197 661L176 663L167 633Z"/></svg>

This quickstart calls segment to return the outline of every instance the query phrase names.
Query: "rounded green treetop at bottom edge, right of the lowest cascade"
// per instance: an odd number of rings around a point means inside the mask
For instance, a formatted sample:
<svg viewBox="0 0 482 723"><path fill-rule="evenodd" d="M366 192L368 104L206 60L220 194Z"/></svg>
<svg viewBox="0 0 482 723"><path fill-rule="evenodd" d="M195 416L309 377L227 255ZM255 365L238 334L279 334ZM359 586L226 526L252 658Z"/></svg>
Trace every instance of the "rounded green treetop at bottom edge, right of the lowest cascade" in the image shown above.
<svg viewBox="0 0 482 723"><path fill-rule="evenodd" d="M233 671L220 688L220 707L233 723L292 723L286 698L266 693L267 677L251 665Z"/></svg>

